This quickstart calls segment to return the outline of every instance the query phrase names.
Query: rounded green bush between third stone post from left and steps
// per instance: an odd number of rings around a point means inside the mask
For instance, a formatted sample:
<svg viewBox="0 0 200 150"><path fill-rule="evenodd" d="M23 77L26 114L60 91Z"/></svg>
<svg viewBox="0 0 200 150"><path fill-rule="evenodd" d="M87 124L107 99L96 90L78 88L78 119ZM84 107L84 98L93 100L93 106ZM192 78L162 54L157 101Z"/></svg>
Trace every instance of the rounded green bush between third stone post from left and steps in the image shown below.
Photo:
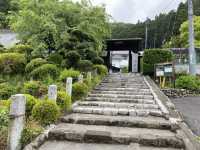
<svg viewBox="0 0 200 150"><path fill-rule="evenodd" d="M72 86L72 100L81 100L87 96L88 87L85 83L74 83Z"/></svg>

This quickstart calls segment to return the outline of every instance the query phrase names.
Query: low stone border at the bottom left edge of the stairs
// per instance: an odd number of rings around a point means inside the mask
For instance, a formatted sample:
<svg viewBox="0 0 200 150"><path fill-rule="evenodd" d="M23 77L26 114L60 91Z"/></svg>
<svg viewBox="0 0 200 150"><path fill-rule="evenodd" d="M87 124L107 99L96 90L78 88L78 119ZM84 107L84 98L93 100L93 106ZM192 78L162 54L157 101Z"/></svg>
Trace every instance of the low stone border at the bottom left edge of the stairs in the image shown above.
<svg viewBox="0 0 200 150"><path fill-rule="evenodd" d="M49 131L55 128L55 125L50 125L42 134L40 134L33 142L28 144L23 150L37 150L46 142L49 136Z"/></svg>

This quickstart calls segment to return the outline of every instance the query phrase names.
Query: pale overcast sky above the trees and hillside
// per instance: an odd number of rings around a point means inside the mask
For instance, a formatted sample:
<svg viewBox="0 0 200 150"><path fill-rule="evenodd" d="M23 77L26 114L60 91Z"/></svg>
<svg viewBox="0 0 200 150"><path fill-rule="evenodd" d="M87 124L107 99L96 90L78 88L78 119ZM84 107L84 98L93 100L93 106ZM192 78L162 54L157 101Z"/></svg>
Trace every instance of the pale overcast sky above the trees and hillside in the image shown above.
<svg viewBox="0 0 200 150"><path fill-rule="evenodd" d="M147 17L177 9L185 0L91 0L94 5L106 5L106 11L114 21L136 23Z"/></svg>

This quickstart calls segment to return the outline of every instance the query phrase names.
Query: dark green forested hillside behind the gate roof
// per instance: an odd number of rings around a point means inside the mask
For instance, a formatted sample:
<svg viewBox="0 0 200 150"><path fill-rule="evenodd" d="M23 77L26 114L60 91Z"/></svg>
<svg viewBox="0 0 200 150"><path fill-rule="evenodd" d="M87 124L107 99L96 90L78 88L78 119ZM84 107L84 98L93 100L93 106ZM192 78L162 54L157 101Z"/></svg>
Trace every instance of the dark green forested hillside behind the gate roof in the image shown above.
<svg viewBox="0 0 200 150"><path fill-rule="evenodd" d="M194 14L200 16L200 0L194 1ZM145 25L148 25L148 48L159 48L171 38L177 41L181 24L187 20L187 3L180 3L177 11L159 14L154 20L146 20L137 24L113 23L112 38L145 38ZM180 46L174 42L173 47Z"/></svg>

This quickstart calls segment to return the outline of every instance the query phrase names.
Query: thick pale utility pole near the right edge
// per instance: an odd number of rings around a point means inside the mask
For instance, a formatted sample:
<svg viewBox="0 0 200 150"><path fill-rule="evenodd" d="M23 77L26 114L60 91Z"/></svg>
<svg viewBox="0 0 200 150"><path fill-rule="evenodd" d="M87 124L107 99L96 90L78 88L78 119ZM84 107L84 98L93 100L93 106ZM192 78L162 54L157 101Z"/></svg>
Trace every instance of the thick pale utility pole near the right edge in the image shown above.
<svg viewBox="0 0 200 150"><path fill-rule="evenodd" d="M196 75L196 51L194 45L194 23L193 23L193 2L188 0L188 20L189 20L189 71Z"/></svg>

